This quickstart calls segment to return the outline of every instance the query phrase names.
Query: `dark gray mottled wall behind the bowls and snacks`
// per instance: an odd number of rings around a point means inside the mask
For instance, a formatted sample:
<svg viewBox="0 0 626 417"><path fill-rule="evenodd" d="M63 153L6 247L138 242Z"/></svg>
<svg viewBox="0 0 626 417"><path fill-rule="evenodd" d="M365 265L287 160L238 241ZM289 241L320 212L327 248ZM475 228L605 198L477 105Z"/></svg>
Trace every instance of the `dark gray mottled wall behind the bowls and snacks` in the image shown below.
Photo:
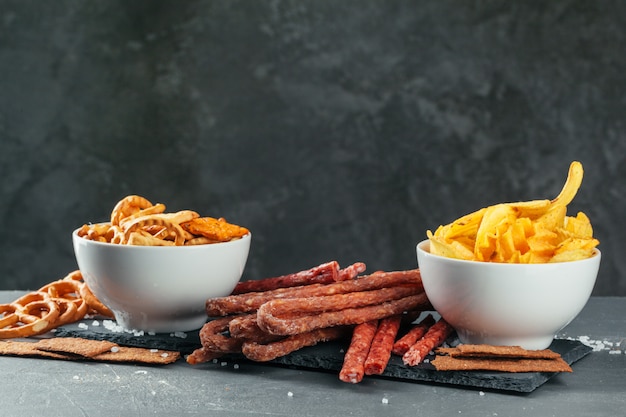
<svg viewBox="0 0 626 417"><path fill-rule="evenodd" d="M0 288L76 268L127 194L253 232L245 279L416 266L427 229L552 198L626 295L626 2L0 0Z"/></svg>

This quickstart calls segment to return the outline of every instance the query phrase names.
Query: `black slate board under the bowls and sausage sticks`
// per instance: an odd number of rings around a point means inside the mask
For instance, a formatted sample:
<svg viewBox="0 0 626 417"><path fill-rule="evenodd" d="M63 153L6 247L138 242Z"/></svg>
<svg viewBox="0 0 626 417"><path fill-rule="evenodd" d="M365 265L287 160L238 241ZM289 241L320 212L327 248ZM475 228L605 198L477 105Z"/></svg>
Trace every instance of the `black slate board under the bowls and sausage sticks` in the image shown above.
<svg viewBox="0 0 626 417"><path fill-rule="evenodd" d="M130 332L114 332L105 326L93 326L92 322L72 324L60 327L55 335L58 337L82 337L85 339L110 340L125 346L136 346L163 350L177 350L182 354L191 353L200 346L198 331L187 332L185 337L180 334L143 334ZM455 345L458 340L447 341ZM299 369L310 369L338 373L343 363L345 349L349 341L332 341L321 343L294 352L290 355L267 362L269 365L287 366ZM563 360L572 365L586 356L592 348L576 340L555 339L550 349L559 353ZM224 360L243 361L243 356L229 355ZM428 357L429 361L432 357ZM480 389L528 393L532 392L552 378L554 372L478 372L478 371L436 371L430 363L421 363L407 367L402 359L392 355L387 368L379 378L391 378L407 382L432 382L451 384ZM371 378L368 376L367 378Z"/></svg>

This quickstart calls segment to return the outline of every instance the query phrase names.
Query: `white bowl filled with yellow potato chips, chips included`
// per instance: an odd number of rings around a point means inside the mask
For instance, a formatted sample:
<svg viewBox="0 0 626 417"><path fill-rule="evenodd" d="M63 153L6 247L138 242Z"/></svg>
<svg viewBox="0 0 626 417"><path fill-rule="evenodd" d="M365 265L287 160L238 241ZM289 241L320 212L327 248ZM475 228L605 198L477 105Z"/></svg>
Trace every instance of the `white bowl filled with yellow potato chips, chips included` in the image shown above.
<svg viewBox="0 0 626 417"><path fill-rule="evenodd" d="M581 182L574 161L556 198L482 208L417 245L426 295L461 342L545 349L580 313L601 260L589 218L567 215Z"/></svg>

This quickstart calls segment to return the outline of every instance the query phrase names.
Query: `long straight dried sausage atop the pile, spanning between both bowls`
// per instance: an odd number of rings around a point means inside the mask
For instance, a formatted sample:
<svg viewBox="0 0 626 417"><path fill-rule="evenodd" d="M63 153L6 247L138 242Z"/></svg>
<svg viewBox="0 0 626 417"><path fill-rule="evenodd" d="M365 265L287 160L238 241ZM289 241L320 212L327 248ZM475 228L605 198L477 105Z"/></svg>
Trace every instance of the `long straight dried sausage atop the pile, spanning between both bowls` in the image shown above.
<svg viewBox="0 0 626 417"><path fill-rule="evenodd" d="M419 270L376 272L360 278L333 282L331 284L311 284L301 287L279 288L270 291L209 298L206 301L206 311L209 317L249 313L257 310L264 303L275 299L345 294L403 284L413 284L423 288Z"/></svg>

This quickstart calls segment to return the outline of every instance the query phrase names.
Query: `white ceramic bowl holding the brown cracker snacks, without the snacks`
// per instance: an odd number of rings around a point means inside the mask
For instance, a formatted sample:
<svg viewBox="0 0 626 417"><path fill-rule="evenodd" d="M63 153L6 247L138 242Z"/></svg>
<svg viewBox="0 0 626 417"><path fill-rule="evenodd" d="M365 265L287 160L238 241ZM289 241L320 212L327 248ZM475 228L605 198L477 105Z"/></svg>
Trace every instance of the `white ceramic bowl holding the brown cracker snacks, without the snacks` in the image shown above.
<svg viewBox="0 0 626 417"><path fill-rule="evenodd" d="M190 331L207 320L207 298L226 296L243 273L251 235L195 246L101 243L72 233L83 279L129 330Z"/></svg>

